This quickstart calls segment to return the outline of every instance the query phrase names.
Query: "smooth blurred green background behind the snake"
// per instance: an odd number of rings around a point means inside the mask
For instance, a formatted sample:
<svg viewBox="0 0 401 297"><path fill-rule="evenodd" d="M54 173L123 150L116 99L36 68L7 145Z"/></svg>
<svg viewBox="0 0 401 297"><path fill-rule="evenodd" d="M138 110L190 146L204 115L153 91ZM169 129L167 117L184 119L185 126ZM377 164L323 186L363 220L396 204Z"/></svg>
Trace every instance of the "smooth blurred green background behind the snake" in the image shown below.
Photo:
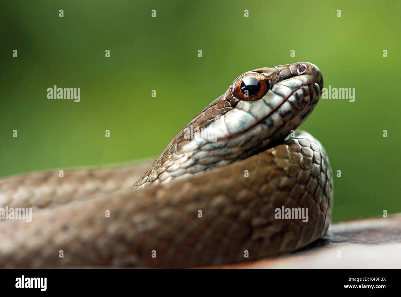
<svg viewBox="0 0 401 297"><path fill-rule="evenodd" d="M325 87L356 89L353 103L320 99L301 126L342 172L334 221L400 212L400 3L2 3L0 176L156 157L241 73L308 61ZM81 102L47 99L53 85L80 87Z"/></svg>

